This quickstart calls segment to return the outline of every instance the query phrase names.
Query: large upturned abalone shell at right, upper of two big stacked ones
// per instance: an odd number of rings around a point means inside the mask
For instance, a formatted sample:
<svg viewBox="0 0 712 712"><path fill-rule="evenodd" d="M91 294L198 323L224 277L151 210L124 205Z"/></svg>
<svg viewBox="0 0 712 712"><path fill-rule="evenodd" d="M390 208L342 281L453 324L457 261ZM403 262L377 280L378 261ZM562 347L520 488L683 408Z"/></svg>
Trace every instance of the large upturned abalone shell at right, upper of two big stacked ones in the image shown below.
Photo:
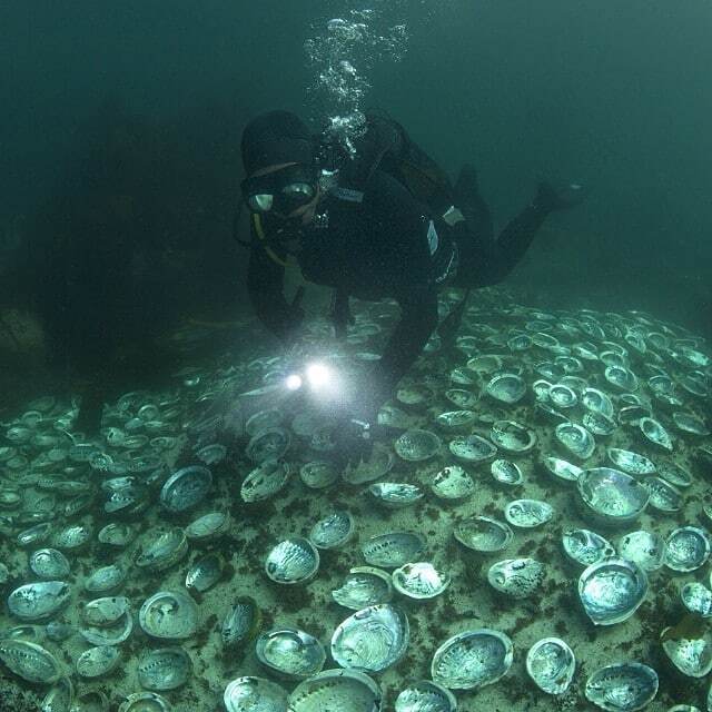
<svg viewBox="0 0 712 712"><path fill-rule="evenodd" d="M647 492L631 475L611 467L584 469L576 486L586 511L609 526L634 521L650 500Z"/></svg>

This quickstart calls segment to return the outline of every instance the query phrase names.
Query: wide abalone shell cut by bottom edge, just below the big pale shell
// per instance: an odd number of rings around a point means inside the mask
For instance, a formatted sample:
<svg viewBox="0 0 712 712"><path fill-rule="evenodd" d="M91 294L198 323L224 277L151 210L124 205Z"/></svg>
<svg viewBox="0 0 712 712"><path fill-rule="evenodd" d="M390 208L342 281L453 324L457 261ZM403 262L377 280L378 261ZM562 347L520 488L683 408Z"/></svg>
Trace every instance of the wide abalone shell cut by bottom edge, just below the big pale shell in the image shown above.
<svg viewBox="0 0 712 712"><path fill-rule="evenodd" d="M325 670L295 688L289 695L289 712L380 712L380 689L368 675L353 670ZM244 711L228 709L228 712ZM250 708L249 712L263 711Z"/></svg>

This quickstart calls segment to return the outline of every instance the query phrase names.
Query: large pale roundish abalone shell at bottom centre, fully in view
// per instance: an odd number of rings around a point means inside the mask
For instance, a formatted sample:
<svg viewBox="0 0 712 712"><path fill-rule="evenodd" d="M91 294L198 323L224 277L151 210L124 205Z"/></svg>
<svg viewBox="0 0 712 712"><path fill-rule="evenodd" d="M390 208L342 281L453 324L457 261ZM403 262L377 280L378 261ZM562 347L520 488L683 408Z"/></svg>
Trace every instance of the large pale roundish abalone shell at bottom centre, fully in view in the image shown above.
<svg viewBox="0 0 712 712"><path fill-rule="evenodd" d="M389 603L372 605L343 621L332 636L332 657L342 666L380 672L397 663L409 641L408 619Z"/></svg>

